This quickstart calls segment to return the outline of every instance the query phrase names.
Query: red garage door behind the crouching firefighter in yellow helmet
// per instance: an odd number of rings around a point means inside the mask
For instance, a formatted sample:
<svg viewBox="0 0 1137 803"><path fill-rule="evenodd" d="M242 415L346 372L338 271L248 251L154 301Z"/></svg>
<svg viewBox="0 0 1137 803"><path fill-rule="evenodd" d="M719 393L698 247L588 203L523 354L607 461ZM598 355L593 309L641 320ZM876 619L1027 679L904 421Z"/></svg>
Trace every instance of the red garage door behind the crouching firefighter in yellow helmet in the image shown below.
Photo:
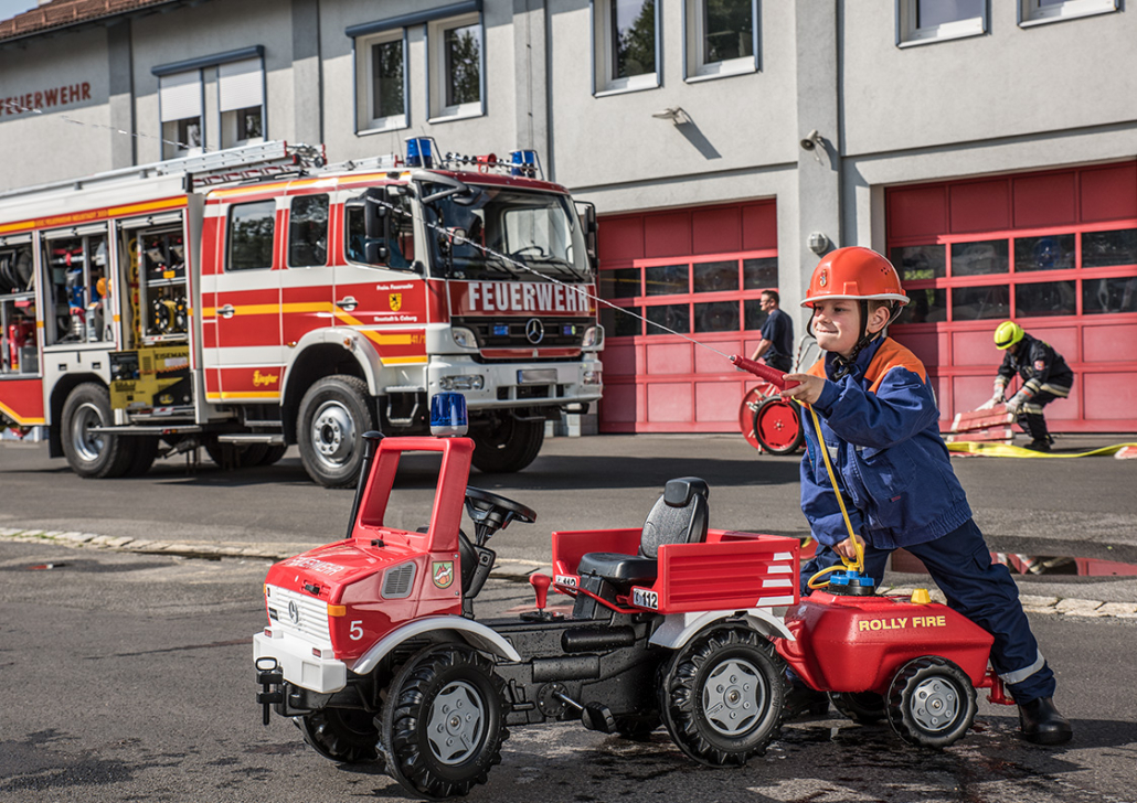
<svg viewBox="0 0 1137 803"><path fill-rule="evenodd" d="M1014 318L1074 373L1056 432L1137 429L1137 162L888 190L889 256L912 296L893 335L945 420L990 396Z"/></svg>

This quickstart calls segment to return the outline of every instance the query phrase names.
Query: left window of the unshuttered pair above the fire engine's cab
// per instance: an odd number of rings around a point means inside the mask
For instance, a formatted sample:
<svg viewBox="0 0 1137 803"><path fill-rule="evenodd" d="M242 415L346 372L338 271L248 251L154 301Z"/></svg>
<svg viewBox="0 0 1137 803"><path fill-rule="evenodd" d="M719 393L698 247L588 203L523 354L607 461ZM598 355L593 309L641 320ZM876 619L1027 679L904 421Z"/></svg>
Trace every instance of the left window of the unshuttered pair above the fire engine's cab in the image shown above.
<svg viewBox="0 0 1137 803"><path fill-rule="evenodd" d="M406 28L356 42L357 131L407 127Z"/></svg>

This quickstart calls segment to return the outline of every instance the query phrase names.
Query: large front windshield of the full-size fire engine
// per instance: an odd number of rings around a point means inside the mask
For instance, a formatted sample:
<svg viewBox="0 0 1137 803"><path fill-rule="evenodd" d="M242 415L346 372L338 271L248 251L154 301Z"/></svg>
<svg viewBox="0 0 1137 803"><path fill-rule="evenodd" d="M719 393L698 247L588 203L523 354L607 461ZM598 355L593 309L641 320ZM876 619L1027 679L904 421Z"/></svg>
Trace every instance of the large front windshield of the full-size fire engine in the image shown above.
<svg viewBox="0 0 1137 803"><path fill-rule="evenodd" d="M565 195L478 186L473 199L450 195L429 203L426 220L435 274L531 281L536 271L562 282L590 278L580 221Z"/></svg>

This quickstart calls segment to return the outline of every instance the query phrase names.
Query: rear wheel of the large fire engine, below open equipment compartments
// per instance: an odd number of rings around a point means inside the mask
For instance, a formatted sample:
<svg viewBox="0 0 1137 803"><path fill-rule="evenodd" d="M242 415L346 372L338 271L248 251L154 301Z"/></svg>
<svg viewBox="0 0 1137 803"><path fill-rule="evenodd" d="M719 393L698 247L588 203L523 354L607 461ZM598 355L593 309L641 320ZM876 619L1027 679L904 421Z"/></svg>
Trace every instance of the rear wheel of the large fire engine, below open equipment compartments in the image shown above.
<svg viewBox="0 0 1137 803"><path fill-rule="evenodd" d="M90 432L115 420L106 387L93 382L78 385L64 402L61 419L64 454L75 474L97 479L126 474L134 458L132 438Z"/></svg>

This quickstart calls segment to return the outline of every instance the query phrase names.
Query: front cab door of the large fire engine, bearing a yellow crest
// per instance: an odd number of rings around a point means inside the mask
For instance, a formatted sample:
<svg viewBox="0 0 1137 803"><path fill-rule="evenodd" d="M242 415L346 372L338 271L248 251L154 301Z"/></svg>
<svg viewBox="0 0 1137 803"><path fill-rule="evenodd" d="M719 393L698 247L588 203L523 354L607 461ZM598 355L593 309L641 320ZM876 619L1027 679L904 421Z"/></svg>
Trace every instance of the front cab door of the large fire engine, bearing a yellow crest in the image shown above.
<svg viewBox="0 0 1137 803"><path fill-rule="evenodd" d="M389 267L381 267L366 262L364 210L350 203L356 195L346 193L342 207L346 259L335 266L335 325L362 331L384 365L425 363L426 283L416 262L409 199L402 196L406 214L390 216Z"/></svg>

